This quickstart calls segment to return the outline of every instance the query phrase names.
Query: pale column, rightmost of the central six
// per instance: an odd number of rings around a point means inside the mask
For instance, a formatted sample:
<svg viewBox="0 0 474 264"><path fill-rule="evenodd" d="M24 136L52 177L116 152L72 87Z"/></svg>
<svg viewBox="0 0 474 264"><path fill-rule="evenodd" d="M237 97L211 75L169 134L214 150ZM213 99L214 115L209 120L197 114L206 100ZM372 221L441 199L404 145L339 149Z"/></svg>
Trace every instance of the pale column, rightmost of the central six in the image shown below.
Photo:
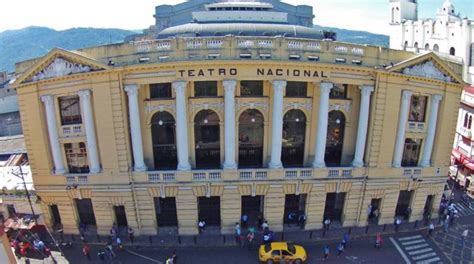
<svg viewBox="0 0 474 264"><path fill-rule="evenodd" d="M361 100L359 110L359 126L357 128L357 141L352 166L364 166L365 142L367 141L367 126L369 124L370 94L374 91L373 86L364 85L359 87Z"/></svg>

